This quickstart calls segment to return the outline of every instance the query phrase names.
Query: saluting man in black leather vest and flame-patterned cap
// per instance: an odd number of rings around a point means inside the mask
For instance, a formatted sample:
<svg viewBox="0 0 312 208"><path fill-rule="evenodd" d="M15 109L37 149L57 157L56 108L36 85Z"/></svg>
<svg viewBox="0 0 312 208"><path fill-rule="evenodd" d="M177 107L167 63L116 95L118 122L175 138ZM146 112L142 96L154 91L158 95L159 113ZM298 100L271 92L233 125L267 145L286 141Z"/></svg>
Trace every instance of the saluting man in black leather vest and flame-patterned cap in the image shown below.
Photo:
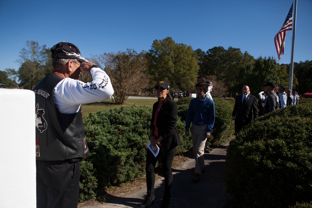
<svg viewBox="0 0 312 208"><path fill-rule="evenodd" d="M80 160L89 155L81 104L113 94L109 76L72 43L51 49L52 73L33 89L36 105L37 207L77 207ZM79 81L81 71L92 82Z"/></svg>

